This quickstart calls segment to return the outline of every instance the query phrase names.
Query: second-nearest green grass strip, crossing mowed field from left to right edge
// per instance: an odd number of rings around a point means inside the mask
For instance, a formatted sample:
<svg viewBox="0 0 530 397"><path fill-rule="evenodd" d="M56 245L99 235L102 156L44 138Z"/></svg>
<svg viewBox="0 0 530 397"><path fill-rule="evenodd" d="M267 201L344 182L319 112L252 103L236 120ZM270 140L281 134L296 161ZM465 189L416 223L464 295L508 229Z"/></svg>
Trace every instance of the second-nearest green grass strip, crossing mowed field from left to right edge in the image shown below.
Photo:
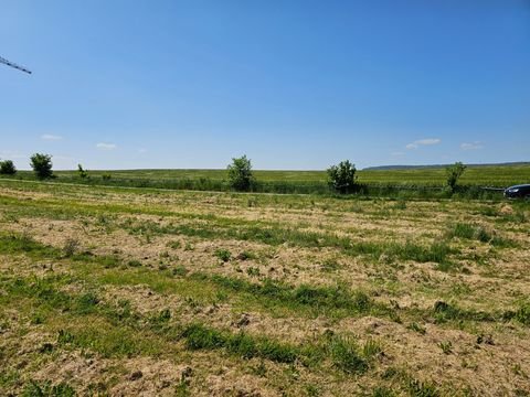
<svg viewBox="0 0 530 397"><path fill-rule="evenodd" d="M25 254L34 259L40 258L53 258L73 260L74 262L88 262L93 265L99 265L104 269L116 269L120 267L119 272L123 275L121 283L127 285L131 279L127 276L129 272L142 272L145 275L155 275L157 285L160 285L161 279L166 280L165 286L171 286L173 278L172 272L159 272L157 270L138 270L132 268L126 270L126 264L117 257L95 256L92 254L75 254L65 256L64 251L42 245L28 236L20 236L15 234L0 235L0 254ZM108 279L107 273L102 276L94 276L93 282L100 283ZM140 276L140 275L139 275ZM351 291L344 286L333 287L315 287L310 285L300 285L298 287L284 285L271 279L265 279L262 283L250 282L247 280L230 278L220 275L205 275L201 272L192 272L188 276L181 273L178 277L183 278L183 282L202 282L204 286L211 283L218 286L225 291L232 291L235 293L244 293L256 299L262 305L280 304L285 308L289 308L293 311L297 311L300 308L310 308L315 313L331 314L331 315L353 315L353 314L373 314L390 318L391 320L399 319L400 315L406 315L412 319L428 320L433 316L437 322L448 321L476 321L476 322L494 322L494 321L509 321L517 320L522 324L529 324L529 303L521 302L518 308L508 310L505 312L487 313L476 310L464 310L456 305L448 304L443 301L436 302L432 310L418 310L418 309L394 309L390 305L381 302L373 301L363 291ZM116 280L113 278L113 280ZM137 277L138 282L149 282L149 278L145 276ZM15 281L15 287L18 286ZM177 280L178 282L178 280ZM176 283L176 287L180 285ZM39 288L39 282L35 282ZM180 287L179 287L180 288ZM172 288L171 291L176 291L179 288ZM18 289L18 287L15 288ZM167 291L166 289L162 292ZM61 302L61 297L55 297L46 291L41 291L42 297L52 297L51 302ZM57 298L57 299L55 299ZM265 299L264 299L265 298ZM95 302L89 297L85 297L83 302ZM341 314L340 314L341 313Z"/></svg>

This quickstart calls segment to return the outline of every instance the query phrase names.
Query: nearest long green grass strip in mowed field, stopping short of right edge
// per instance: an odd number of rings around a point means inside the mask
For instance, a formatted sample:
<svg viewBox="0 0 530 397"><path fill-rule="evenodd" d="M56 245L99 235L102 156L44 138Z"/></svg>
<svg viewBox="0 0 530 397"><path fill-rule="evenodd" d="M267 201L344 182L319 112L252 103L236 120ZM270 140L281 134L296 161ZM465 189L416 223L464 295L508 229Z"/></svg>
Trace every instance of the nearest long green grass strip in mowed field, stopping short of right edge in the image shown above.
<svg viewBox="0 0 530 397"><path fill-rule="evenodd" d="M39 318L34 316L33 321L46 324L59 313L76 321L80 316L92 319L98 331L88 324L84 328L68 326L65 319L62 323L65 328L57 331L56 343L66 347L92 348L108 357L161 354L160 342L149 334L151 332L169 341L183 340L189 350L223 348L242 358L261 357L277 363L298 361L305 365L319 364L329 358L347 373L363 372L368 367L368 360L380 351L379 345L374 347L374 342L370 341L359 352L357 342L341 336L325 336L316 344L293 345L266 336L222 331L201 323L176 323L170 322L171 313L168 310L146 318L134 312L128 303L105 303L95 292L72 294L59 289L71 281L67 276L55 276L18 278L7 285L11 301L20 298L34 301L33 309L36 309ZM105 329L99 328L103 324L106 324ZM146 340L140 342L140 337ZM41 348L51 351L54 347L43 345Z"/></svg>

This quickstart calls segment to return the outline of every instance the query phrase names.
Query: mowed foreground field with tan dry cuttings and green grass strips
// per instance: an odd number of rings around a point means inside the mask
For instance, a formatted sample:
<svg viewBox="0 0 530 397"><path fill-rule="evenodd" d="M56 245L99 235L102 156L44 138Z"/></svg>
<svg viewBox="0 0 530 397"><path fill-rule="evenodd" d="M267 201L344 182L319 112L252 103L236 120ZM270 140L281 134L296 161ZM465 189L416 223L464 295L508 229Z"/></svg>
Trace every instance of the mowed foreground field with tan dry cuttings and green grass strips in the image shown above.
<svg viewBox="0 0 530 397"><path fill-rule="evenodd" d="M528 202L0 180L0 395L526 396L529 269Z"/></svg>

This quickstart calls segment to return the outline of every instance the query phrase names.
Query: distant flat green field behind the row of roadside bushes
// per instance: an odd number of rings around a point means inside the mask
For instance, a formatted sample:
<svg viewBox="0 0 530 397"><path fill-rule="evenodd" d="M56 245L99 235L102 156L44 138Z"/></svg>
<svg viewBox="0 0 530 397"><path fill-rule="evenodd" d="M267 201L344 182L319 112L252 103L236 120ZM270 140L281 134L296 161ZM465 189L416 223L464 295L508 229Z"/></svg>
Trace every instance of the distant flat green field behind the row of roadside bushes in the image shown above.
<svg viewBox="0 0 530 397"><path fill-rule="evenodd" d="M89 171L88 180L78 178L76 171L56 171L57 182L121 185L132 187L163 187L188 190L227 190L226 170L114 170ZM104 180L104 175L110 176ZM271 193L327 193L325 171L254 171L257 192ZM33 179L29 171L20 171L18 178ZM381 195L377 186L399 189L443 187L446 183L444 168L409 170L358 171L358 181L371 193ZM460 179L464 189L471 186L507 187L530 182L530 164L469 167ZM393 192L382 192L395 194Z"/></svg>

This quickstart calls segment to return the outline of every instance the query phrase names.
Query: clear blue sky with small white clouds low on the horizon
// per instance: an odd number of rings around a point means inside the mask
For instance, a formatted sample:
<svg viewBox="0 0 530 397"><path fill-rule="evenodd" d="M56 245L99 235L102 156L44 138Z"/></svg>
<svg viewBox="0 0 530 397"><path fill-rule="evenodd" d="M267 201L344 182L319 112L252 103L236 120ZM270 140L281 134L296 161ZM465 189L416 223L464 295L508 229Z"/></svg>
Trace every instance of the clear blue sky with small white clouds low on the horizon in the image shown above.
<svg viewBox="0 0 530 397"><path fill-rule="evenodd" d="M530 160L528 0L0 0L0 158Z"/></svg>

